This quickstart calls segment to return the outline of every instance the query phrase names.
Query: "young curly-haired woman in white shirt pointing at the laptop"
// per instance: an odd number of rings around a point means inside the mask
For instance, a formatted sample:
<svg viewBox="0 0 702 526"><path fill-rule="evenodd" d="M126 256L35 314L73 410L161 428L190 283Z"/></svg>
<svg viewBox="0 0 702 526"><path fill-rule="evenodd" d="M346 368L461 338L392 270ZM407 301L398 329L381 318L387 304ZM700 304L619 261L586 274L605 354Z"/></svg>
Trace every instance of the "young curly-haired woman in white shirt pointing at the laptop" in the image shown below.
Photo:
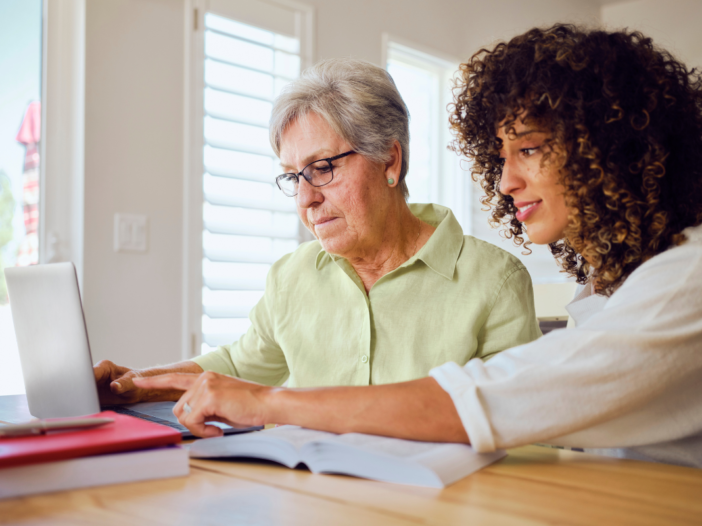
<svg viewBox="0 0 702 526"><path fill-rule="evenodd" d="M533 29L461 67L451 124L491 221L584 285L574 328L391 385L135 382L185 390L176 414L203 436L217 418L702 467L700 75L640 33Z"/></svg>

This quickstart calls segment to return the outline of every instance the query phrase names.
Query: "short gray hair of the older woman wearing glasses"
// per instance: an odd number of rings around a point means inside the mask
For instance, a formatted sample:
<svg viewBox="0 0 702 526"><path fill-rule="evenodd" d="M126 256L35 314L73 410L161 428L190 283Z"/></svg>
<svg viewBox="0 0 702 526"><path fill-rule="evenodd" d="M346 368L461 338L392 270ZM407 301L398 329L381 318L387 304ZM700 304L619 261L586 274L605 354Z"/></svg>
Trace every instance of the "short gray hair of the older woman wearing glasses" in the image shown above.
<svg viewBox="0 0 702 526"><path fill-rule="evenodd" d="M280 157L285 128L309 113L322 117L354 151L387 162L394 141L402 147L399 188L407 199L409 111L390 74L369 62L329 59L306 69L273 103L270 141Z"/></svg>

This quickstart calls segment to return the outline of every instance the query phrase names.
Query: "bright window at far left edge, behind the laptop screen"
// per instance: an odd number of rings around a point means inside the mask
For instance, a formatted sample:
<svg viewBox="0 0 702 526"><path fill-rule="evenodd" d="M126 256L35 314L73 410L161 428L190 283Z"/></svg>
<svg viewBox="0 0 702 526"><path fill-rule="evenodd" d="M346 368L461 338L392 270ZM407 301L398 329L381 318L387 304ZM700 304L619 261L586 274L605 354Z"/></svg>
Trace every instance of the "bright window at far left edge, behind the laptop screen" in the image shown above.
<svg viewBox="0 0 702 526"><path fill-rule="evenodd" d="M2 269L39 261L42 2L0 2L0 395L24 393Z"/></svg>

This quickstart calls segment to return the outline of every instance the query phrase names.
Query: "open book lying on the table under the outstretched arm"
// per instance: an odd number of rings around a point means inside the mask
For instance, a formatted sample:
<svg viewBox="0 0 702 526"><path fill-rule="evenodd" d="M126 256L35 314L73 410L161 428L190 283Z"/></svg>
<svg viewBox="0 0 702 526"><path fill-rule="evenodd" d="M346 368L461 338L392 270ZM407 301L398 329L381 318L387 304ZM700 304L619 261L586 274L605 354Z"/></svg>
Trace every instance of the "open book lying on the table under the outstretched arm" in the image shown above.
<svg viewBox="0 0 702 526"><path fill-rule="evenodd" d="M375 435L335 435L297 426L198 440L192 458L248 457L312 473L341 473L384 482L443 488L505 457L479 454L464 444L414 442Z"/></svg>

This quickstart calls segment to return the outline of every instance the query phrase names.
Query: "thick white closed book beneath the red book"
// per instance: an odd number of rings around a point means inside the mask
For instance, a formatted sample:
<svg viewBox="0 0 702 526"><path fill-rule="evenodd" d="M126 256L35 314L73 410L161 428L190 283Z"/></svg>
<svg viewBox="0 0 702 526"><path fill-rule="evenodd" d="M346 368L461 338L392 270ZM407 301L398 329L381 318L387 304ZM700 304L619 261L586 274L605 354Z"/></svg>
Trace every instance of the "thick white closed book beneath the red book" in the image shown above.
<svg viewBox="0 0 702 526"><path fill-rule="evenodd" d="M0 499L105 484L181 477L189 472L188 452L180 446L43 462L1 468Z"/></svg>

